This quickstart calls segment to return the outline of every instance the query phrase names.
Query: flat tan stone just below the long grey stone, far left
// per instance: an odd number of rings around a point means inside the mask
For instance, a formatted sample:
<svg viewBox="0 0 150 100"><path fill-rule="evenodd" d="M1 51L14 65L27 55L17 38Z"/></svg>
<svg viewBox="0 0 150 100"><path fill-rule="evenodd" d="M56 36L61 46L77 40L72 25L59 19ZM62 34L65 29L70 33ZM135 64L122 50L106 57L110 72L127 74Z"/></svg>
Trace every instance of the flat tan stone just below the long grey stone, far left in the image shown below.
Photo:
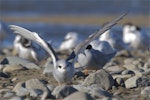
<svg viewBox="0 0 150 100"><path fill-rule="evenodd" d="M25 67L21 65L4 65L3 72L12 72L17 70L24 70Z"/></svg>

